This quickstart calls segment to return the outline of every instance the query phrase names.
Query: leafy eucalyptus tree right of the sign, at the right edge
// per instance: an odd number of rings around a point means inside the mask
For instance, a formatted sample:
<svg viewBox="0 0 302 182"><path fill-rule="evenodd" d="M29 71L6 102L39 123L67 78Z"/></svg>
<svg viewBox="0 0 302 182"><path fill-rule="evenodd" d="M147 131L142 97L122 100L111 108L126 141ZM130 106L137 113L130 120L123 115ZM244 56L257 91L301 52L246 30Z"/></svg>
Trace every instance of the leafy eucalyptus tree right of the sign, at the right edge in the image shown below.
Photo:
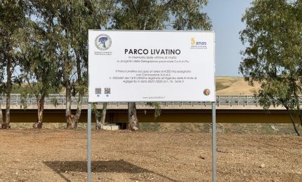
<svg viewBox="0 0 302 182"><path fill-rule="evenodd" d="M295 116L302 125L301 15L301 1L256 0L242 18L247 27L239 33L247 45L239 71L249 84L261 83L261 106L282 105L287 109L298 135Z"/></svg>

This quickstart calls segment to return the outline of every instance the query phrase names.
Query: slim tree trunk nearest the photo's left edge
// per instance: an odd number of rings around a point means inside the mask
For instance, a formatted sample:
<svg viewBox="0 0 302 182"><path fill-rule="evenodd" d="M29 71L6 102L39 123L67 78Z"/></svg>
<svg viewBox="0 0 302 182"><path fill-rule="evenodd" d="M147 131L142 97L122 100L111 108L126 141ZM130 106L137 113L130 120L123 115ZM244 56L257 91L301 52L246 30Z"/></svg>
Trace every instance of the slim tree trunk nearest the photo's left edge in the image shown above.
<svg viewBox="0 0 302 182"><path fill-rule="evenodd" d="M6 122L1 125L3 129L10 128L11 123L11 60L8 59L6 66Z"/></svg>

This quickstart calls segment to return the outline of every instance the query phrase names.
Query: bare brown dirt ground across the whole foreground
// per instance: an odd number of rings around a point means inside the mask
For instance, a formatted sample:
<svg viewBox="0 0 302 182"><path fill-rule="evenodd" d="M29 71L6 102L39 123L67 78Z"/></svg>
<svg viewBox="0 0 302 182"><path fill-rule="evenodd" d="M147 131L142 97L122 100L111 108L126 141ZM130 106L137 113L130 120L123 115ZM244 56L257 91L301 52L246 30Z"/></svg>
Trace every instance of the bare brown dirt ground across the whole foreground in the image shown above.
<svg viewBox="0 0 302 182"><path fill-rule="evenodd" d="M0 130L0 181L86 181L86 131ZM93 181L211 181L211 134L93 131ZM217 181L302 181L302 137L218 134Z"/></svg>

